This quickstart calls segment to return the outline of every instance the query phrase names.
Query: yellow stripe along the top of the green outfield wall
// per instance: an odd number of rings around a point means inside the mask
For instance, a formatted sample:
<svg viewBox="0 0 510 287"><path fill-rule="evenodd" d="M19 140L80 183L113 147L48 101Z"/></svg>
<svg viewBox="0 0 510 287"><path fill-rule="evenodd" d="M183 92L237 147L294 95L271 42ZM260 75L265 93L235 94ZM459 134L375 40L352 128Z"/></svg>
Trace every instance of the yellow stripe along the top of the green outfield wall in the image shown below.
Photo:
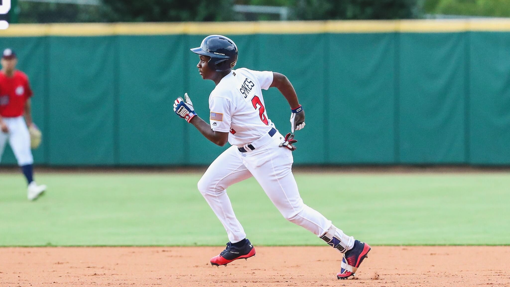
<svg viewBox="0 0 510 287"><path fill-rule="evenodd" d="M0 37L510 32L510 19L13 24Z"/></svg>

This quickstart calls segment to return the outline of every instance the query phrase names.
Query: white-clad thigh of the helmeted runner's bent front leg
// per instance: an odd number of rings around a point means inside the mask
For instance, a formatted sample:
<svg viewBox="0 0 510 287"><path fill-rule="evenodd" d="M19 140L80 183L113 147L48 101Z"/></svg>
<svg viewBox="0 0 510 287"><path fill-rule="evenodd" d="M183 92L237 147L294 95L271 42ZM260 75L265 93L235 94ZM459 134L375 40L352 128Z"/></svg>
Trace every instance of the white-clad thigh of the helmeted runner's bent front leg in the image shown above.
<svg viewBox="0 0 510 287"><path fill-rule="evenodd" d="M239 155L237 147L232 146L211 163L198 181L198 189L201 193L221 192L228 186L251 176Z"/></svg>

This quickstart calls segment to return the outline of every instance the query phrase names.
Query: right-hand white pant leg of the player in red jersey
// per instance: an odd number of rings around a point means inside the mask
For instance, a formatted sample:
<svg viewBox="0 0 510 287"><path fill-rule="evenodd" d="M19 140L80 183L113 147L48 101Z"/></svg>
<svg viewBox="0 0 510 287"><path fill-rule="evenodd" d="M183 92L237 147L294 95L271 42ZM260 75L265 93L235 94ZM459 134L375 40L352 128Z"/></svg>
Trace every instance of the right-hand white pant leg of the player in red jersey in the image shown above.
<svg viewBox="0 0 510 287"><path fill-rule="evenodd" d="M19 166L34 163L30 148L30 133L22 116L6 118L9 127L9 144Z"/></svg>

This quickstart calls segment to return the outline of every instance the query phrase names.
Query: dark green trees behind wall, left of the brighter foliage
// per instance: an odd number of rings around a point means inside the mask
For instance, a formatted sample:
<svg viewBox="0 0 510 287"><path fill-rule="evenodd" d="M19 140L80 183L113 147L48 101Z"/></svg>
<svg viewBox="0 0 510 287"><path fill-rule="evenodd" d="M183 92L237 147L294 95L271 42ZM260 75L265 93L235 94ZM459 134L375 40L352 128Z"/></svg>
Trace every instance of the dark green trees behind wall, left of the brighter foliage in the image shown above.
<svg viewBox="0 0 510 287"><path fill-rule="evenodd" d="M233 11L234 4L286 6L290 20L401 19L422 0L102 0L102 5L19 2L20 22L160 22L278 19ZM439 0L438 0L439 1ZM453 1L453 0L450 0ZM457 0L460 1L460 0Z"/></svg>

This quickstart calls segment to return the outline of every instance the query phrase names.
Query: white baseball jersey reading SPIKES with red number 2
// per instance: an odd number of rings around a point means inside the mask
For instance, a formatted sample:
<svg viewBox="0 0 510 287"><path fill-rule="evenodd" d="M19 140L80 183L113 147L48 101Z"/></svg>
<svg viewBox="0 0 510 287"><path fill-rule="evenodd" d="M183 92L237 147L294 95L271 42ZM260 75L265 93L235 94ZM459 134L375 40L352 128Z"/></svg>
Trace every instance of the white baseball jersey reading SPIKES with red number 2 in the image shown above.
<svg viewBox="0 0 510 287"><path fill-rule="evenodd" d="M267 117L262 89L272 83L272 71L232 70L209 96L211 129L229 132L228 142L239 147L265 135L274 124Z"/></svg>

